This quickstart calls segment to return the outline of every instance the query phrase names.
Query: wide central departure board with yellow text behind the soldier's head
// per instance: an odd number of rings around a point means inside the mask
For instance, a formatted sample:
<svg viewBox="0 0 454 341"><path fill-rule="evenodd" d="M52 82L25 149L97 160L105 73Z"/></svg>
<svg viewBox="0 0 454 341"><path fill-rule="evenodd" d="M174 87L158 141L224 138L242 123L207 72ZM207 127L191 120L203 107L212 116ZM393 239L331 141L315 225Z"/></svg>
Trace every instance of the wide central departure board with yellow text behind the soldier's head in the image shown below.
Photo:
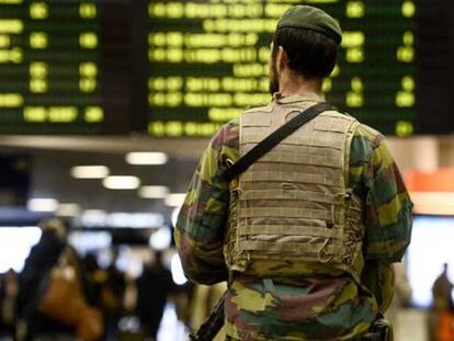
<svg viewBox="0 0 454 341"><path fill-rule="evenodd" d="M271 100L272 33L291 5L316 5L344 31L327 100L384 134L415 134L412 0L159 0L148 3L148 132L211 136Z"/></svg>

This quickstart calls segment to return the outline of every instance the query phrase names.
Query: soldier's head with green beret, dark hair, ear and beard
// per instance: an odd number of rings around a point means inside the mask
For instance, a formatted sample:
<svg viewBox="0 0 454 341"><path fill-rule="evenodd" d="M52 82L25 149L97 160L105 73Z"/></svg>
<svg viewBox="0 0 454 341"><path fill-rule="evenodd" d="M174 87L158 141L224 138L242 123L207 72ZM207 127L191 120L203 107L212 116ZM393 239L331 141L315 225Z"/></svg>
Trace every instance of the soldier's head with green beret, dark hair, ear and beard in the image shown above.
<svg viewBox="0 0 454 341"><path fill-rule="evenodd" d="M342 31L326 12L309 5L288 9L277 23L270 60L270 92L277 92L283 71L306 80L331 75Z"/></svg>

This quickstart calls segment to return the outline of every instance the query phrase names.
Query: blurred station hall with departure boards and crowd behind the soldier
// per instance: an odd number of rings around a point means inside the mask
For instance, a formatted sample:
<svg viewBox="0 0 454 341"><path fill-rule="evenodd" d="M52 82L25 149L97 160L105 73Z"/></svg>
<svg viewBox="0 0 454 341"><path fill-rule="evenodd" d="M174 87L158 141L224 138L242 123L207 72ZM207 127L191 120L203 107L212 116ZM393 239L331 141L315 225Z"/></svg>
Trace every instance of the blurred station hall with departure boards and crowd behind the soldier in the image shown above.
<svg viewBox="0 0 454 341"><path fill-rule="evenodd" d="M225 287L186 282L172 227L207 138L270 101L271 35L295 3L340 21L327 99L387 135L416 204L396 340L454 340L450 0L0 0L0 340L67 334L24 319L71 259L93 334L197 328Z"/></svg>

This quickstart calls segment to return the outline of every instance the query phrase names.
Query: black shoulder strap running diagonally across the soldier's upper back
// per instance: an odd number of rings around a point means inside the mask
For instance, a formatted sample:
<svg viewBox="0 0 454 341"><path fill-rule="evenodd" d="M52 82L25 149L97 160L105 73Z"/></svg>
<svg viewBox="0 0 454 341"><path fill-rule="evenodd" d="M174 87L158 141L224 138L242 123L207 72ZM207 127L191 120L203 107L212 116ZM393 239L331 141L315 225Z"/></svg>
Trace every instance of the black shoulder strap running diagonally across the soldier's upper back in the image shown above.
<svg viewBox="0 0 454 341"><path fill-rule="evenodd" d="M332 110L326 102L318 103L300 112L296 117L281 126L277 130L253 147L247 155L240 158L237 163L228 168L225 178L228 182L245 172L252 163L263 157L266 152L277 146L283 139L297 130L299 127L317 117L322 112Z"/></svg>

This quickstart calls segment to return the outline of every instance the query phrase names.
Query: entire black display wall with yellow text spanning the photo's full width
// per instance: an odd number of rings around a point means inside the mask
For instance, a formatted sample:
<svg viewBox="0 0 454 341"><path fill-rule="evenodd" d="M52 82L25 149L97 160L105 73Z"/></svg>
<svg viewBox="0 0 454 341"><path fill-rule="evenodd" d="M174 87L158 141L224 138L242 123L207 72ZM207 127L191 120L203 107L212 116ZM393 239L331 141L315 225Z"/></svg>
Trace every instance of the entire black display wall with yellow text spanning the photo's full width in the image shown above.
<svg viewBox="0 0 454 341"><path fill-rule="evenodd" d="M295 3L343 27L332 105L387 135L454 130L450 0L0 0L0 134L211 136L270 101Z"/></svg>

